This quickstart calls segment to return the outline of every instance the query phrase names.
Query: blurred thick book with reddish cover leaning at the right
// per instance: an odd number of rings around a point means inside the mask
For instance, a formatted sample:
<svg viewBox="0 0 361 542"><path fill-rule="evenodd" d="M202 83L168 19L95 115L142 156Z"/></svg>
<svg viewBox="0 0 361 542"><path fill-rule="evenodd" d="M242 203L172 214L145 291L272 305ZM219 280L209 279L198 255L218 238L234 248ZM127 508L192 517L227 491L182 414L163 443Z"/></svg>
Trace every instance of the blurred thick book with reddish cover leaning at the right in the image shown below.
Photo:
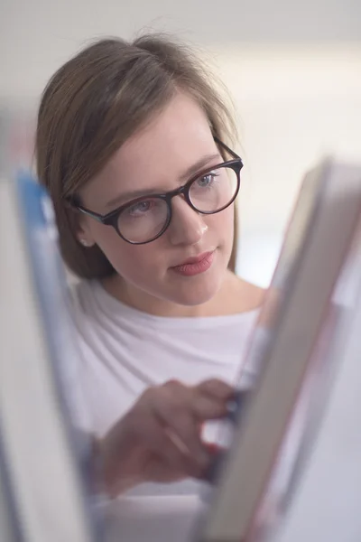
<svg viewBox="0 0 361 542"><path fill-rule="evenodd" d="M257 368L255 383L235 404L199 542L270 540L286 517L360 303L360 219L361 167L327 159L306 175L242 363Z"/></svg>

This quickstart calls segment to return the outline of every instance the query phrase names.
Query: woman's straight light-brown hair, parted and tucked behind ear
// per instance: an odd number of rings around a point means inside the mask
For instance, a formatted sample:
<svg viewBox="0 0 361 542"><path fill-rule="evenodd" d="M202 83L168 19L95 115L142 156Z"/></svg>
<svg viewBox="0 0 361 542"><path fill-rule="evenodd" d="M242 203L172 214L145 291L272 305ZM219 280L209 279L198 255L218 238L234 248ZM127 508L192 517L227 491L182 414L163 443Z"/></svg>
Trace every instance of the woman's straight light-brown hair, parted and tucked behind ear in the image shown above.
<svg viewBox="0 0 361 542"><path fill-rule="evenodd" d="M95 42L66 62L44 89L36 130L37 173L51 194L62 257L77 276L102 278L115 271L100 248L79 244L78 217L67 198L100 172L177 89L202 107L214 136L232 139L233 117L205 67L184 44L163 35ZM235 261L236 212L233 270Z"/></svg>

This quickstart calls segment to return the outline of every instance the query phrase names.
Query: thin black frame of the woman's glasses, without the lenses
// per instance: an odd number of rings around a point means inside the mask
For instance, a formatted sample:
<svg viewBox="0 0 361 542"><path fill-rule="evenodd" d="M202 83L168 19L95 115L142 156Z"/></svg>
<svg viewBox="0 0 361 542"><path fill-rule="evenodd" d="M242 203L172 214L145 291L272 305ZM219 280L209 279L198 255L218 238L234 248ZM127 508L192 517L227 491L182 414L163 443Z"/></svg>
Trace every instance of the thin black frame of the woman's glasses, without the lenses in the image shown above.
<svg viewBox="0 0 361 542"><path fill-rule="evenodd" d="M214 166L212 166L210 168L208 167L207 169L197 173L196 175L193 175L191 177L190 181L186 182L185 184L183 184L179 188L176 188L175 190L172 190L171 192L165 192L165 193L159 193L159 194L151 194L151 195L147 195L147 196L140 196L139 198L135 198L132 201L128 201L127 203L121 205L117 209L108 212L106 215L101 215L101 214L99 214L97 212L94 212L93 210L88 210L86 207L83 207L82 205L79 205L79 203L77 203L76 199L74 199L74 198L70 198L68 200L69 204L73 209L79 210L79 212L91 217L92 219L95 219L98 222L101 222L102 224L105 224L106 226L113 227L114 229L116 229L116 233L118 234L118 236L121 237L123 240L125 240L127 243L130 243L131 245L146 245L147 243L151 243L152 241L155 241L155 239L160 238L162 236L162 234L165 232L166 229L168 229L169 225L171 224L171 218L172 218L171 200L175 196L182 195L184 197L184 200L187 201L187 203L190 205L190 208L195 210L196 212L199 212L199 214L204 214L204 215L217 214L218 212L221 212L222 210L227 209L227 207L229 207L229 205L231 205L236 200L236 197L237 197L238 192L239 192L240 183L241 183L240 173L241 173L241 170L242 170L244 164L242 162L242 158L240 156L238 156L238 154L236 154L234 151L232 151L227 145L222 143L217 137L215 137L214 139L215 139L215 142L220 147L222 147L225 151L227 151L227 153L229 153L231 156L233 156L233 159L228 160L227 162L223 162L222 164L214 165ZM221 168L224 168L224 167L231 168L236 173L237 187L236 187L236 191L235 191L235 194L234 194L232 200L228 201L227 205L224 205L222 208L220 208L218 210L211 210L211 211L207 210L207 211L205 211L205 210L197 209L197 207L195 207L193 205L193 203L192 203L192 201L190 199L190 188L191 188L193 182L196 182L199 179L199 177L202 177L203 175L205 175L208 172L213 172L214 170L221 169ZM161 200L163 200L163 201L165 201L167 203L168 218L165 221L163 228L161 229L161 231L159 233L157 233L156 236L154 236L151 239L148 239L147 241L138 242L138 241L131 241L131 240L125 238L122 235L119 228L118 228L119 215L124 210L128 209L129 207L133 207L137 203L140 203L141 201L147 200L150 197L161 199Z"/></svg>

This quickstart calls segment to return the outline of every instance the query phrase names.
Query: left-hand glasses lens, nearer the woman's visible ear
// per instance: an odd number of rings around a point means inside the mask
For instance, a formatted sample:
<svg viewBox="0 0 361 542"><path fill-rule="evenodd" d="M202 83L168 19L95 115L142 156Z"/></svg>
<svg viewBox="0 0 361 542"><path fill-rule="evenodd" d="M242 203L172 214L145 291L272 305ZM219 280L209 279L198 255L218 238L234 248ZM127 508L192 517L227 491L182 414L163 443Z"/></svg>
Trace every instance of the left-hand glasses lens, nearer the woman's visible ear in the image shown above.
<svg viewBox="0 0 361 542"><path fill-rule="evenodd" d="M168 205L162 198L143 198L121 212L118 229L128 241L145 243L161 233L168 218Z"/></svg>

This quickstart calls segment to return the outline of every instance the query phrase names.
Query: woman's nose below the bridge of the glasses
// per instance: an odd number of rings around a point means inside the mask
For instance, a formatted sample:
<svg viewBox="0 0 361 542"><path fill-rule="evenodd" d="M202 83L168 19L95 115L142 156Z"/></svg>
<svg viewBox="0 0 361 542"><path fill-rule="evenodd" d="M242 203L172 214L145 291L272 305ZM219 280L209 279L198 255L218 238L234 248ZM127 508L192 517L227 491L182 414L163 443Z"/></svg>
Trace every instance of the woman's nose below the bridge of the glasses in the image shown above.
<svg viewBox="0 0 361 542"><path fill-rule="evenodd" d="M172 245L197 245L208 226L196 210L193 210L182 196L172 201L172 218L168 235Z"/></svg>

